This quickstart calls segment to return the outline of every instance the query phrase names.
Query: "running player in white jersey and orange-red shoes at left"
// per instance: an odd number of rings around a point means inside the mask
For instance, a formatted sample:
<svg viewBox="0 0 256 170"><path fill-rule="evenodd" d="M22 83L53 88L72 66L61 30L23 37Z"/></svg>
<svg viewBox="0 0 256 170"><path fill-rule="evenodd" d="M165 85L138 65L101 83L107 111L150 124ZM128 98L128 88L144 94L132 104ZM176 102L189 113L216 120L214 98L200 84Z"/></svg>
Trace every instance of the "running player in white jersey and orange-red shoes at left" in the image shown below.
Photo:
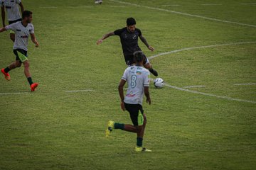
<svg viewBox="0 0 256 170"><path fill-rule="evenodd" d="M22 21L18 21L16 23L12 23L9 26L0 28L0 33L4 30L13 30L15 32L15 42L14 42L14 54L16 55L16 61L11 63L9 67L5 69L1 69L1 72L4 74L6 80L10 80L10 74L8 73L11 69L15 69L16 67L21 67L21 63L24 66L24 73L26 78L28 79L28 83L31 86L31 91L35 91L38 83L33 83L31 78L31 73L29 71L29 62L28 62L28 38L31 35L32 42L39 46L38 41L36 40L36 36L34 34L34 28L32 21L32 12L31 11L23 11L22 13Z"/></svg>

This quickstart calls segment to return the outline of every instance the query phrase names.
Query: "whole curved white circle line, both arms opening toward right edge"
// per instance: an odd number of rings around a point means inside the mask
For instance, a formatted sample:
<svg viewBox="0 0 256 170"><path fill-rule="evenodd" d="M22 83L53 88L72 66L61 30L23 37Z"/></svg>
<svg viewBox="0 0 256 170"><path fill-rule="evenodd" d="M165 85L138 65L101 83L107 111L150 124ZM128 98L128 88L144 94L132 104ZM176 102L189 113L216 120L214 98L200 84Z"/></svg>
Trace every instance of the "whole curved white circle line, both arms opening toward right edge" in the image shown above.
<svg viewBox="0 0 256 170"><path fill-rule="evenodd" d="M161 55L169 55L171 53L181 52L181 51L185 51L185 50L194 50L194 49L200 49L200 48L206 48L206 47L220 47L220 46L226 46L226 45L252 44L252 43L256 43L256 42L235 42L235 43L228 43L228 44L222 44L222 45L207 45L207 46L201 46L201 47L187 47L187 48L183 48L181 50L163 52L163 53L160 53L159 55L153 55L153 56L148 57L148 58L149 58L149 60L151 60L151 59L153 59L155 57L159 57ZM242 102L247 102L247 103L256 103L256 101L247 101L247 100L242 100L242 99L239 99L239 98L230 98L230 97L227 97L227 96L218 96L218 95L215 95L215 94L206 94L206 93L199 92L199 91L191 91L191 90L183 89L183 88L180 88L180 87L177 87L177 86L171 86L171 85L166 84L166 83L164 83L164 84L165 84L165 86L168 86L170 88L177 89L177 90L180 90L180 91L187 91L187 92L190 92L190 93L193 93L193 94L202 94L204 96L212 96L212 97L216 97L216 98L225 98L225 99L228 99L228 100L231 100L231 101L242 101Z"/></svg>

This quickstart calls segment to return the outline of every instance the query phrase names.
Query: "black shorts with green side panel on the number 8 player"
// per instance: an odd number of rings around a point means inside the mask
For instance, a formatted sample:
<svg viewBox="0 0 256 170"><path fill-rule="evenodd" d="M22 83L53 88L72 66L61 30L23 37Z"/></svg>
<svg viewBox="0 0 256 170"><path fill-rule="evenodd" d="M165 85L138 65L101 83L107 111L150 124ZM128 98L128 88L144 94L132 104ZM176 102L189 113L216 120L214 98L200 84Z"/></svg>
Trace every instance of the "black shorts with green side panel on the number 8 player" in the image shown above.
<svg viewBox="0 0 256 170"><path fill-rule="evenodd" d="M143 125L144 117L143 117L143 108L140 104L128 104L124 103L125 109L129 112L130 118L132 120L133 125ZM139 113L140 111L140 113Z"/></svg>

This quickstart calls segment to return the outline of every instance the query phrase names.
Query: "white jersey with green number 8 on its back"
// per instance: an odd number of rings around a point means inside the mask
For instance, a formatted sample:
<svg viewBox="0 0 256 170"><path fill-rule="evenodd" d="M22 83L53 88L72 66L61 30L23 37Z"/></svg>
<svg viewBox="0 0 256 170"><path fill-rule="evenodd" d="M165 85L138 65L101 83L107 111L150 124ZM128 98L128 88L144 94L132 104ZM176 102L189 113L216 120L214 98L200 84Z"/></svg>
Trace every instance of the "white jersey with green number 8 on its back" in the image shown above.
<svg viewBox="0 0 256 170"><path fill-rule="evenodd" d="M124 103L142 105L144 86L149 86L150 82L149 70L143 67L131 66L125 69L122 79L127 81L128 84Z"/></svg>

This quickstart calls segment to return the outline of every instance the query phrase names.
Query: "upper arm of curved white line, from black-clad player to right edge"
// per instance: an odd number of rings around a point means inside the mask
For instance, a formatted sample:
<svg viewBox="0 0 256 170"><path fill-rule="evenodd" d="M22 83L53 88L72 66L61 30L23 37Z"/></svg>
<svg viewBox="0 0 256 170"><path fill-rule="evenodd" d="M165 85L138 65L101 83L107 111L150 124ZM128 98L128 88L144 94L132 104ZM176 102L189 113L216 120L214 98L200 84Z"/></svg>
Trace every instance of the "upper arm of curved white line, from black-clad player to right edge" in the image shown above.
<svg viewBox="0 0 256 170"><path fill-rule="evenodd" d="M220 44L220 45L206 45L206 46L201 46L201 47L186 47L186 48L182 48L180 50L174 50L174 51L170 51L170 52L162 52L158 55L153 55L153 56L148 57L148 58L149 58L149 60L151 60L151 59L154 59L155 57L159 57L161 55L169 55L169 54L172 54L172 53L186 51L186 50L194 50L194 49L201 49L201 48L208 48L208 47L221 47L221 46L228 46L228 45L243 45L243 44L252 44L252 43L256 43L256 41L253 41L253 42L234 42L234 43Z"/></svg>

